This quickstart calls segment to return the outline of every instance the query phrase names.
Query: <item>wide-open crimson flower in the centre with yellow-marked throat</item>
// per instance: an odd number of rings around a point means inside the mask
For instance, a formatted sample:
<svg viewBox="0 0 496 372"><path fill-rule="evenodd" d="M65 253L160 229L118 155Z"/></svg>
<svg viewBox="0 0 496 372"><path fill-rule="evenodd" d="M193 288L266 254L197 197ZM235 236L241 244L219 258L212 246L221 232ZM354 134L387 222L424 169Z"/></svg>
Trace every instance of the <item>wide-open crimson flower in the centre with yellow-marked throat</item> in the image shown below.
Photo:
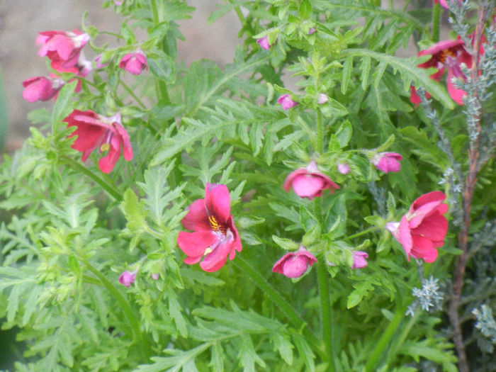
<svg viewBox="0 0 496 372"><path fill-rule="evenodd" d="M230 214L230 195L222 184L206 184L205 199L197 199L188 207L181 220L184 228L193 232L179 232L177 244L188 256L188 265L200 262L204 271L218 271L227 256L234 259L241 252L241 240ZM203 261L202 261L203 259Z"/></svg>

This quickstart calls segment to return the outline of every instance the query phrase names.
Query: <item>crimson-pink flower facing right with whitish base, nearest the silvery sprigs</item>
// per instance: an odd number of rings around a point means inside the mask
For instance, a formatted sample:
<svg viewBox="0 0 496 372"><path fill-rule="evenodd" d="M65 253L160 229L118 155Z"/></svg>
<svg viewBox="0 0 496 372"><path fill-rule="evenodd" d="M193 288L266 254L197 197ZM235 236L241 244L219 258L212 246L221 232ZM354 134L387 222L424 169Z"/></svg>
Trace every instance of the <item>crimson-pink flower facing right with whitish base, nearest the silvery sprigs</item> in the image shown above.
<svg viewBox="0 0 496 372"><path fill-rule="evenodd" d="M444 213L448 205L443 203L446 195L432 191L417 198L400 222L388 222L386 228L401 243L410 261L410 256L434 262L437 249L444 244L448 232L448 221Z"/></svg>

